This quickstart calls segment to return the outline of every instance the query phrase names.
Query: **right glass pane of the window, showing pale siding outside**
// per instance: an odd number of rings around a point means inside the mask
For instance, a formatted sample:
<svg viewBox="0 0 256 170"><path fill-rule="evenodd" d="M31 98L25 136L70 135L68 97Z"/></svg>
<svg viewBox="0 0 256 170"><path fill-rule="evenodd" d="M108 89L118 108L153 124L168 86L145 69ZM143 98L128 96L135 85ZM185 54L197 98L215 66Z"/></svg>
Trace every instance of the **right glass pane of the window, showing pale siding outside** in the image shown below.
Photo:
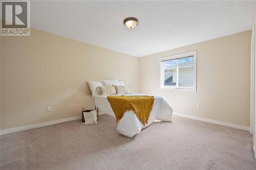
<svg viewBox="0 0 256 170"><path fill-rule="evenodd" d="M178 59L179 87L194 87L194 57Z"/></svg>

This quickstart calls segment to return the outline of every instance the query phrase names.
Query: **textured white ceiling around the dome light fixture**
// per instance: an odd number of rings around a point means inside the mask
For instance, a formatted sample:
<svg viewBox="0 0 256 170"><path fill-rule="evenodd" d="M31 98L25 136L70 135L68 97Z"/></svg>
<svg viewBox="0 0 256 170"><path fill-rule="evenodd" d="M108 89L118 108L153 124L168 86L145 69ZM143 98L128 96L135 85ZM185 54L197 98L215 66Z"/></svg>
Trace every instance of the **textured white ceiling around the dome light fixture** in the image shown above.
<svg viewBox="0 0 256 170"><path fill-rule="evenodd" d="M31 27L132 56L252 29L254 1L32 1ZM126 17L139 25L127 29Z"/></svg>

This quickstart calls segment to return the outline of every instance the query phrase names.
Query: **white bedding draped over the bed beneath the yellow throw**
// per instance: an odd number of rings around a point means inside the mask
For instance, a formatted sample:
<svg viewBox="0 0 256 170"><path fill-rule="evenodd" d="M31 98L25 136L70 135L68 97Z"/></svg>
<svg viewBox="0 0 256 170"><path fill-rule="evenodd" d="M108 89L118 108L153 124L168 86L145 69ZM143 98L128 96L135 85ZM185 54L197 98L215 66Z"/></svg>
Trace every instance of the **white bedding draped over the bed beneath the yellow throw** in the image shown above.
<svg viewBox="0 0 256 170"><path fill-rule="evenodd" d="M122 95L149 95L149 94L122 94ZM120 134L124 136L133 137L136 134L139 134L141 129L152 124L156 119L172 122L173 109L165 101L162 96L154 95L154 105L148 118L147 125L143 126L137 116L133 111L127 111L124 113L122 119L119 121L117 130ZM115 114L110 106L110 103L106 96L96 95L95 96L95 106L99 109L100 114L109 114L115 117Z"/></svg>

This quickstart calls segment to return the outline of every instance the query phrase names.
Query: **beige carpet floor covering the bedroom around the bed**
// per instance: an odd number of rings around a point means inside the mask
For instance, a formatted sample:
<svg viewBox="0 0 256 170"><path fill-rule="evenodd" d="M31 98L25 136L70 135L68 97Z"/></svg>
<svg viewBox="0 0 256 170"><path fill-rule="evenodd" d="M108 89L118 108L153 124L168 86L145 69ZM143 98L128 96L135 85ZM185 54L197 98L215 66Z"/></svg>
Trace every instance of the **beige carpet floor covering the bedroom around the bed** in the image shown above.
<svg viewBox="0 0 256 170"><path fill-rule="evenodd" d="M1 136L1 169L256 169L249 132L175 118L133 138L115 118L80 120Z"/></svg>

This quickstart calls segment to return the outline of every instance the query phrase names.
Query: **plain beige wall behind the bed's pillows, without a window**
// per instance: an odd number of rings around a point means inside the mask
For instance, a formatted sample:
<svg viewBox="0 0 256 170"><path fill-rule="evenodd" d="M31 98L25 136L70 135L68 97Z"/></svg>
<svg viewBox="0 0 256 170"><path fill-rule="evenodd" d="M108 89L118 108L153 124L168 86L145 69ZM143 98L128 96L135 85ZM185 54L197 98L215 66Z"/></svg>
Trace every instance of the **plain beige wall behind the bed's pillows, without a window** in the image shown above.
<svg viewBox="0 0 256 170"><path fill-rule="evenodd" d="M136 57L33 29L28 37L1 37L1 130L93 109L87 80L119 79L138 92L138 64Z"/></svg>

